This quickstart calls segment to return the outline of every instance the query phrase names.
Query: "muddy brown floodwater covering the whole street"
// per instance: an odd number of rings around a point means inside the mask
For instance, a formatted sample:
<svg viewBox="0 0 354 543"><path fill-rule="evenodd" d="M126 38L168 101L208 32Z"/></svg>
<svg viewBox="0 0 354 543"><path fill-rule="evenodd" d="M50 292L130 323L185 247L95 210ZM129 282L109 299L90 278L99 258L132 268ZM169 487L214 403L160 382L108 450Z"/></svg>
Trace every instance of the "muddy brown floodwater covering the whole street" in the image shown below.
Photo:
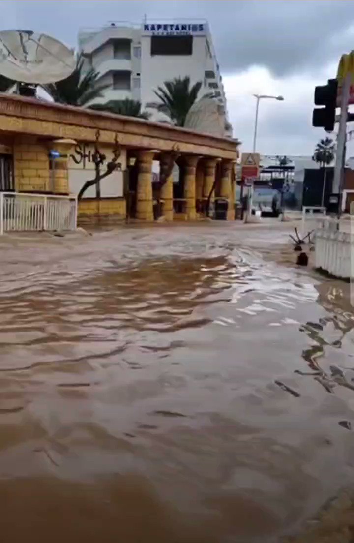
<svg viewBox="0 0 354 543"><path fill-rule="evenodd" d="M354 313L289 226L0 242L3 543L278 541L354 481Z"/></svg>

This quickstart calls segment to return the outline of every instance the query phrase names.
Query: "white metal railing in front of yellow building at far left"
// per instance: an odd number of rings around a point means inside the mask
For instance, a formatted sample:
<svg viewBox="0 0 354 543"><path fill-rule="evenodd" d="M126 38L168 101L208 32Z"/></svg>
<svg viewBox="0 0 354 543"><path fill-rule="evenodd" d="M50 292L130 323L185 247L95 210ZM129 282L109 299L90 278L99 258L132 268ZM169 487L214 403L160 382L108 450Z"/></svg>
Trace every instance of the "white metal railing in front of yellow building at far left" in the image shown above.
<svg viewBox="0 0 354 543"><path fill-rule="evenodd" d="M76 196L0 193L0 234L4 232L41 232L75 230L78 202Z"/></svg>

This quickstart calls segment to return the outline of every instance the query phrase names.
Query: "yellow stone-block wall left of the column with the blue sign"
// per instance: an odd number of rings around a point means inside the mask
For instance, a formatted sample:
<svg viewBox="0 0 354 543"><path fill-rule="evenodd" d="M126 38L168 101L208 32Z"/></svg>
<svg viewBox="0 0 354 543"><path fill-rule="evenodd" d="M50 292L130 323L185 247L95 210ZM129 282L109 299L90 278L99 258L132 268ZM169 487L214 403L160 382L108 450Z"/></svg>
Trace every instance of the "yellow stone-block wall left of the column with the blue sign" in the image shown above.
<svg viewBox="0 0 354 543"><path fill-rule="evenodd" d="M49 159L45 143L36 137L14 141L14 173L17 192L49 191Z"/></svg>

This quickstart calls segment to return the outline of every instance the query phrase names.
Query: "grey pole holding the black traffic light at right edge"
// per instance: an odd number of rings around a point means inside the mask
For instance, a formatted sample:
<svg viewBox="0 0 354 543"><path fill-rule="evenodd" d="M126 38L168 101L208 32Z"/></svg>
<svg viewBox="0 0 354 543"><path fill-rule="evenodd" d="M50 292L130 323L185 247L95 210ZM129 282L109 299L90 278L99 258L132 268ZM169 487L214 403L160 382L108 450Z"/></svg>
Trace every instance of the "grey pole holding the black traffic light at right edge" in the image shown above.
<svg viewBox="0 0 354 543"><path fill-rule="evenodd" d="M340 96L340 118L336 151L336 165L334 166L334 178L332 188L333 194L338 194L338 217L340 215L340 212L342 211L341 207L344 181L346 122L348 115L350 83L351 73L348 74L343 81L342 93Z"/></svg>

